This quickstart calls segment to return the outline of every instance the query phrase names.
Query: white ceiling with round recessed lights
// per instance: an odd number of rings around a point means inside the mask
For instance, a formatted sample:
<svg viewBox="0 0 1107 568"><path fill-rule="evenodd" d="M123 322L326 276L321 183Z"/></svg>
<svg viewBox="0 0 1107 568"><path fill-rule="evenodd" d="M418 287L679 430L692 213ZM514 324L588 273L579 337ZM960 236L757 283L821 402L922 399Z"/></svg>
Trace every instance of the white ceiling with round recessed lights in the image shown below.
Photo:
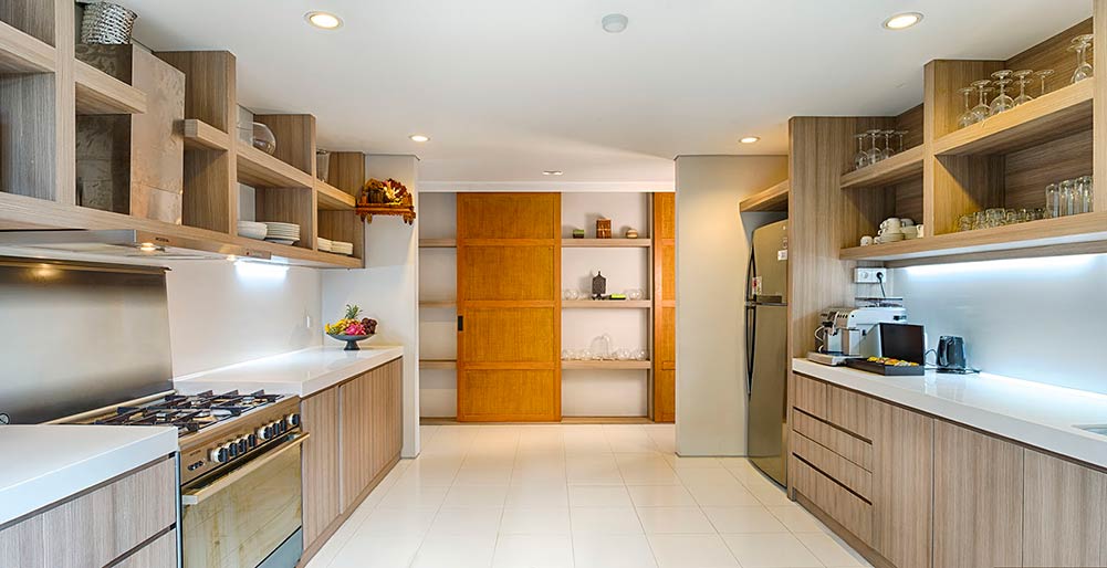
<svg viewBox="0 0 1107 568"><path fill-rule="evenodd" d="M1092 13L1090 0L116 1L154 49L234 52L240 103L314 114L323 147L417 154L431 182L560 169L558 183L652 186L672 185L676 155L785 154L793 115L899 113L921 102L927 61L1006 59ZM309 10L345 24L313 29ZM881 27L910 10L925 20ZM625 32L602 31L611 12Z"/></svg>

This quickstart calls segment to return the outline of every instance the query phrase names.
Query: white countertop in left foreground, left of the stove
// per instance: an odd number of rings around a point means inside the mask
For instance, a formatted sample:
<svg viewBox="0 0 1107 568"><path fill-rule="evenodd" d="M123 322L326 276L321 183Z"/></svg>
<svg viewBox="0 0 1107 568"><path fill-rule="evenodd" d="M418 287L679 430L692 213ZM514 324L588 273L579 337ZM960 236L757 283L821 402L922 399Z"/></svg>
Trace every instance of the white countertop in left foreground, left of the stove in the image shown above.
<svg viewBox="0 0 1107 568"><path fill-rule="evenodd" d="M0 426L0 525L176 451L173 426Z"/></svg>

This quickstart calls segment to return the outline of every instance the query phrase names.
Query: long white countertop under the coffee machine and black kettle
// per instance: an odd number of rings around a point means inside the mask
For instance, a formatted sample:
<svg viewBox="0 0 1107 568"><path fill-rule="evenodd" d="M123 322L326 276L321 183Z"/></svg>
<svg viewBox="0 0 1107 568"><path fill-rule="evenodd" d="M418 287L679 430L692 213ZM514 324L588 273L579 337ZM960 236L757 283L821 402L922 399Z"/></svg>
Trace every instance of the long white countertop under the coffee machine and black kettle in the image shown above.
<svg viewBox="0 0 1107 568"><path fill-rule="evenodd" d="M793 371L1107 468L1107 395L989 373L881 376L794 359Z"/></svg>

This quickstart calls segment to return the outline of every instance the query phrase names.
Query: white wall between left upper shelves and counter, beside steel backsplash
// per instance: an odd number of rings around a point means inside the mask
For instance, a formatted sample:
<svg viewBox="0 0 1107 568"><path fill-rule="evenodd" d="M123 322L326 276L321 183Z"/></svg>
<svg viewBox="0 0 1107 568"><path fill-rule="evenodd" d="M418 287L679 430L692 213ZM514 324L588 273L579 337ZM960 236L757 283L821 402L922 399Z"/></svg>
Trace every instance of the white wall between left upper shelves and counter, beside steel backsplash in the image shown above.
<svg viewBox="0 0 1107 568"><path fill-rule="evenodd" d="M166 275L175 375L322 341L318 270L183 261Z"/></svg>

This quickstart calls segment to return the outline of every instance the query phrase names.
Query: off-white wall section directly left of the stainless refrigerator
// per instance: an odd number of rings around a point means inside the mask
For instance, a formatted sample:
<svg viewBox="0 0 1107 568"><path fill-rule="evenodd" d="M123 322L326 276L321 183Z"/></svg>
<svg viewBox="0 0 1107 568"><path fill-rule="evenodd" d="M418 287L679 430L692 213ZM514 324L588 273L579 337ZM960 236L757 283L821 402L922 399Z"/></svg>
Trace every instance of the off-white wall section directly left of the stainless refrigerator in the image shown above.
<svg viewBox="0 0 1107 568"><path fill-rule="evenodd" d="M676 158L676 450L746 448L744 282L749 256L738 202L787 178L786 156ZM745 218L743 218L745 217Z"/></svg>

